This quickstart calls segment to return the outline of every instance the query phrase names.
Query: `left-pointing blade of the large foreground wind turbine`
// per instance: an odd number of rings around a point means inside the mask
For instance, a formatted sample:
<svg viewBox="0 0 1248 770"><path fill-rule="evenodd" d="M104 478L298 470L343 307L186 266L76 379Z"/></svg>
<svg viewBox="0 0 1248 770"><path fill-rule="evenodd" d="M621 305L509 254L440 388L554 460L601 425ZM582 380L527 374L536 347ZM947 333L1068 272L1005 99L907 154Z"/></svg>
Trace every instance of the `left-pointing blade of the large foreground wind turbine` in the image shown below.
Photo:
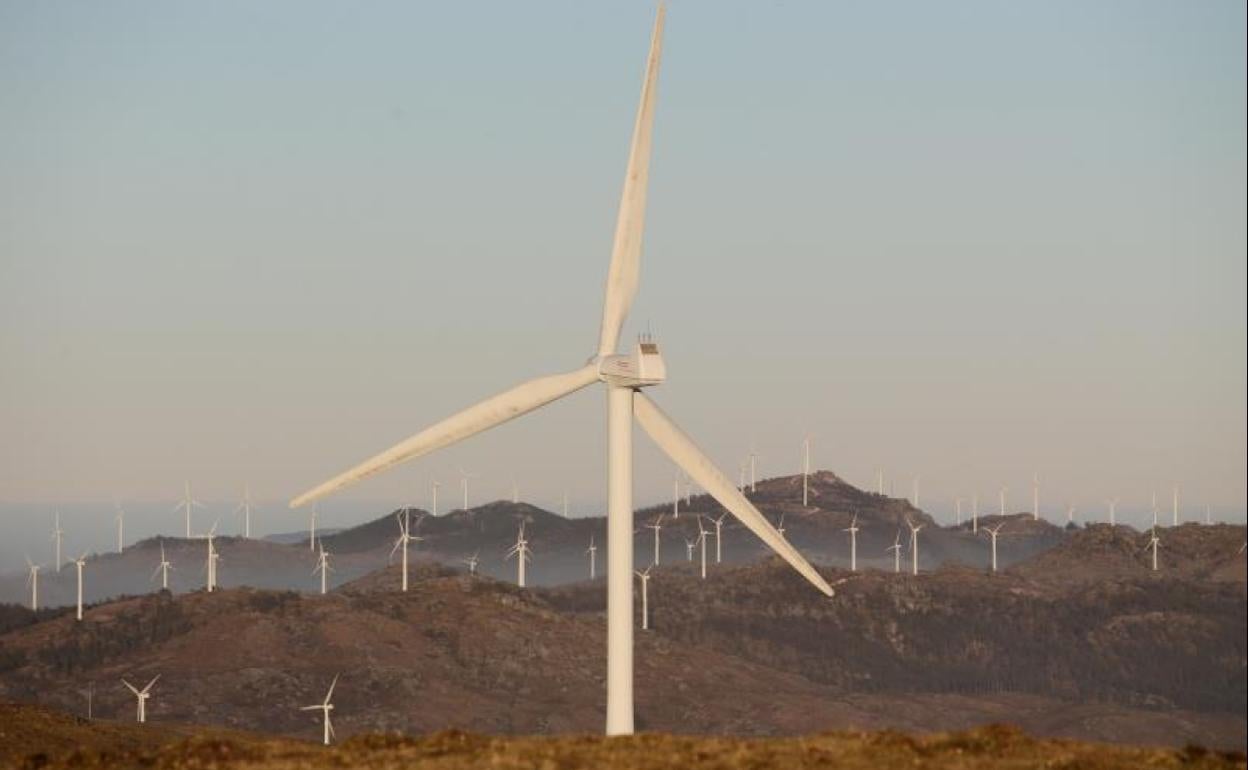
<svg viewBox="0 0 1248 770"><path fill-rule="evenodd" d="M291 500L291 508L298 508L312 500L318 500L329 493L343 487L381 473L402 462L428 454L436 449L448 447L463 441L469 436L475 436L499 426L509 419L527 414L538 407L544 407L552 401L563 398L569 393L595 382L598 379L598 367L585 364L584 367L563 374L539 377L520 383L509 391L468 407L458 414L453 414L442 422L421 431L412 438L399 442L386 452L377 454L354 468L341 473L319 487Z"/></svg>

